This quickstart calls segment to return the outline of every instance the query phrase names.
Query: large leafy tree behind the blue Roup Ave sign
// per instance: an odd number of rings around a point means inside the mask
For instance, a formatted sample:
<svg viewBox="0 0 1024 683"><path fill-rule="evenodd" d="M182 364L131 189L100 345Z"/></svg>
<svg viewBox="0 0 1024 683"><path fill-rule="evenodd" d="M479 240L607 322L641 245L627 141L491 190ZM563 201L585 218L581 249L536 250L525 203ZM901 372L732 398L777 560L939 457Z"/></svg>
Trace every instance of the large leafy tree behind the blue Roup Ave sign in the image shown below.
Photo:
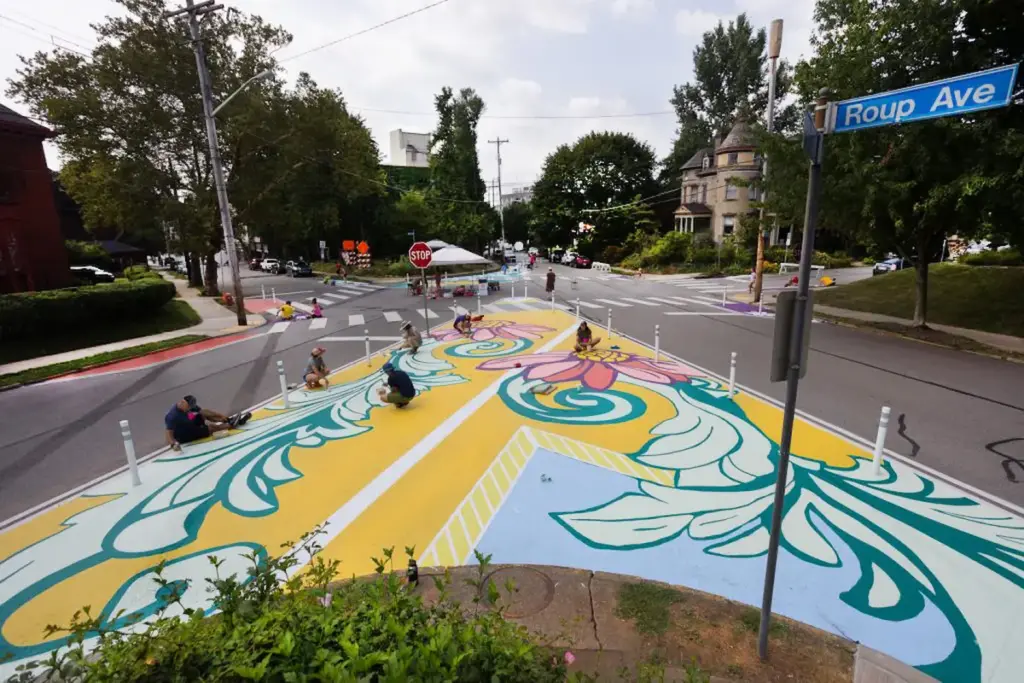
<svg viewBox="0 0 1024 683"><path fill-rule="evenodd" d="M884 92L1021 56L1009 3L980 0L818 0L813 56L797 67L804 102ZM1011 12L1013 14L1013 12ZM1010 24L1008 26L1008 23ZM1016 41L1016 43L1015 43ZM982 113L829 136L822 227L908 258L916 271L914 324L928 319L928 266L945 236L1020 229L1019 114ZM798 222L807 161L798 142L768 148L768 207ZM777 154L777 156L776 156ZM788 162L784 161L788 160ZM778 161L778 164L776 164ZM802 169L802 171L801 171ZM1001 195L1000 189L1009 189Z"/></svg>

